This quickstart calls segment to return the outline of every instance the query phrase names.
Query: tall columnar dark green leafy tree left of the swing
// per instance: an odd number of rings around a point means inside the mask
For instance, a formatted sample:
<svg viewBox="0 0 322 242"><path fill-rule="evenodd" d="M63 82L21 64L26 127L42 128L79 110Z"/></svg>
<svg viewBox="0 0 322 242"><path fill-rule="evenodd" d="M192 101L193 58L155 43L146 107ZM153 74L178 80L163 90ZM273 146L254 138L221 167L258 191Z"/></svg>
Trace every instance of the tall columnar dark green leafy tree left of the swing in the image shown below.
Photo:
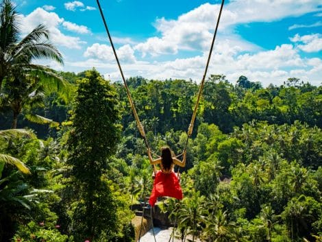
<svg viewBox="0 0 322 242"><path fill-rule="evenodd" d="M115 234L117 217L110 185L103 180L107 161L116 152L120 125L114 88L95 71L80 80L69 134L67 164L71 166L72 232L77 240ZM82 199L79 199L81 197Z"/></svg>

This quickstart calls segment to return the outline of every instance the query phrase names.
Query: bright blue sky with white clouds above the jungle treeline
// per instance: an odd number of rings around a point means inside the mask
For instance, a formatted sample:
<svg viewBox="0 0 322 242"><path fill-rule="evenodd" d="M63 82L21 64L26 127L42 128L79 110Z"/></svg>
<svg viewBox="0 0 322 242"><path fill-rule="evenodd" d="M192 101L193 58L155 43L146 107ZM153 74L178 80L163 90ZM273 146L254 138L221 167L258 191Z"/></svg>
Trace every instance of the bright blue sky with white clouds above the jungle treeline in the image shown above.
<svg viewBox="0 0 322 242"><path fill-rule="evenodd" d="M23 34L47 25L64 56L64 66L43 64L76 73L95 67L106 78L121 79L96 1L13 1ZM100 2L125 77L201 80L220 1ZM232 83L245 75L263 86L289 77L321 85L321 1L226 0L210 74Z"/></svg>

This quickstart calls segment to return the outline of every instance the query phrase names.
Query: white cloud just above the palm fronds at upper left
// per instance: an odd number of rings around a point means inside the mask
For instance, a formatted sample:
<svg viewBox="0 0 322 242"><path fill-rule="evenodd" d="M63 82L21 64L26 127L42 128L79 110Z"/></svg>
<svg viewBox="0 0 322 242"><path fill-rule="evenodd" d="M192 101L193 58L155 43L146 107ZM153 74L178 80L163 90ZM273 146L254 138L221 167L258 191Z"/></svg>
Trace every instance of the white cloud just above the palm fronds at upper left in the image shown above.
<svg viewBox="0 0 322 242"><path fill-rule="evenodd" d="M67 36L60 32L59 26L64 23L64 19L60 18L55 12L47 12L42 8L36 8L27 16L21 15L21 29L23 34L32 31L37 25L43 24L47 26L50 32L51 41L55 45L61 45L69 49L80 49L85 43L79 37Z"/></svg>

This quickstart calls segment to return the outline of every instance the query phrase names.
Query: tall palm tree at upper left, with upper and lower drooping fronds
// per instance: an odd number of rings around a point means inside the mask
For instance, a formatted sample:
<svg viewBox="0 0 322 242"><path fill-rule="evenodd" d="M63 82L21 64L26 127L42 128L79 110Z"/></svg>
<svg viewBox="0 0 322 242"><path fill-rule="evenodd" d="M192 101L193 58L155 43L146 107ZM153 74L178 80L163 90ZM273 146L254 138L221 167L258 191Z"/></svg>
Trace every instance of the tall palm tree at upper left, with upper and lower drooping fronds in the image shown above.
<svg viewBox="0 0 322 242"><path fill-rule="evenodd" d="M49 30L38 25L19 41L18 15L10 0L3 0L0 10L0 106L12 109L12 128L16 128L18 114L27 104L40 102L40 88L57 91L66 101L69 90L62 78L47 66L33 64L33 60L47 58L62 64L62 55L49 41ZM28 105L27 105L28 106ZM29 105L30 107L30 105ZM36 115L27 119L36 123L57 123Z"/></svg>

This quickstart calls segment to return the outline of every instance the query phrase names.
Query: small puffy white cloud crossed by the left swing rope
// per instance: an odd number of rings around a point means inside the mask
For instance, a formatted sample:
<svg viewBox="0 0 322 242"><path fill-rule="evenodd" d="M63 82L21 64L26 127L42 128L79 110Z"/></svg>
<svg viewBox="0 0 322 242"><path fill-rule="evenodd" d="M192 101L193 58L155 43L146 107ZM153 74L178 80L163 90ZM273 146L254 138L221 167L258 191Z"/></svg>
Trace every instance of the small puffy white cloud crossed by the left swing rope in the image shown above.
<svg viewBox="0 0 322 242"><path fill-rule="evenodd" d="M117 49L116 54L119 60L123 63L136 62L136 58L134 57L134 49L132 49L132 47L129 45L123 45ZM84 52L84 57L103 60L106 62L112 62L115 60L112 47L108 45L100 45L99 43L95 43L91 47L88 47Z"/></svg>

